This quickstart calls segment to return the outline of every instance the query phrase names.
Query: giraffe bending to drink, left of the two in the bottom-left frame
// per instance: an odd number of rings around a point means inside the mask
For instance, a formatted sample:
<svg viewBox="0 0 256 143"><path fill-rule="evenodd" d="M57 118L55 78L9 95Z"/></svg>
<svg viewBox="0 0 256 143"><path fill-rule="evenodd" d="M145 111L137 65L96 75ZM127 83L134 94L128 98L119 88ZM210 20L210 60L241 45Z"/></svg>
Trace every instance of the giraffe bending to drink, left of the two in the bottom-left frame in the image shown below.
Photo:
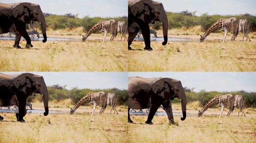
<svg viewBox="0 0 256 143"><path fill-rule="evenodd" d="M90 92L87 95L83 96L82 99L80 99L77 104L74 106L74 108L70 108L70 114L73 114L74 111L76 111L76 109L78 107L80 107L81 105L85 104L85 102L90 102L91 104L93 104L93 110L92 110L92 114L93 115L95 108L97 105L101 104L101 109L100 112L98 113L101 114L104 112L104 109L106 108L107 105L107 93L100 91L100 92Z"/></svg>

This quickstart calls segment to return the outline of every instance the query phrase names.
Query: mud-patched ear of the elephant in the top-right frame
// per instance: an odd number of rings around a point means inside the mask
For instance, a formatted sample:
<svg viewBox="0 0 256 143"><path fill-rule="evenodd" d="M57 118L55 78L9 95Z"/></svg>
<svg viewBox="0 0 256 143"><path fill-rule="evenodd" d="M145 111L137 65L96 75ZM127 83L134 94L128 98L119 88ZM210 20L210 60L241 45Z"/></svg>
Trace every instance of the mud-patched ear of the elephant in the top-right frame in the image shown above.
<svg viewBox="0 0 256 143"><path fill-rule="evenodd" d="M138 0L130 6L130 9L132 15L136 18L139 18L146 23L150 23L152 12L150 11L151 7L146 2L147 1L144 0Z"/></svg>

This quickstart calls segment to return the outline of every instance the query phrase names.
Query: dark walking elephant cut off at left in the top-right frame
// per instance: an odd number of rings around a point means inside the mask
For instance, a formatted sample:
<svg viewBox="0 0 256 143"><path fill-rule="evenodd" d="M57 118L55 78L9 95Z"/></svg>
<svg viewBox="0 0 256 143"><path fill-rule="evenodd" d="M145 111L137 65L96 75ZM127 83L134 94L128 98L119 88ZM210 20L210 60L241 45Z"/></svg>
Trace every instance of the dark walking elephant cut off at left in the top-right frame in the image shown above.
<svg viewBox="0 0 256 143"><path fill-rule="evenodd" d="M168 40L168 19L162 3L153 0L128 0L128 50L138 32L142 31L144 38L144 50L153 50L150 47L149 23L162 22L164 42Z"/></svg>

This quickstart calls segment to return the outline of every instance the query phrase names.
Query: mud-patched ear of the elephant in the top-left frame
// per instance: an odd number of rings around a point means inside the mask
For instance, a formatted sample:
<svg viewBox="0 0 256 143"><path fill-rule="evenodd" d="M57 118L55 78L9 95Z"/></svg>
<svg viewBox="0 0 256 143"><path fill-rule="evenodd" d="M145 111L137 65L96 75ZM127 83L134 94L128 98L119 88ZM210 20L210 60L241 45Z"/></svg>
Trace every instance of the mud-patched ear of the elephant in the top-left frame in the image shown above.
<svg viewBox="0 0 256 143"><path fill-rule="evenodd" d="M31 21L31 3L18 3L12 8L12 14L16 19L22 20L25 23Z"/></svg>

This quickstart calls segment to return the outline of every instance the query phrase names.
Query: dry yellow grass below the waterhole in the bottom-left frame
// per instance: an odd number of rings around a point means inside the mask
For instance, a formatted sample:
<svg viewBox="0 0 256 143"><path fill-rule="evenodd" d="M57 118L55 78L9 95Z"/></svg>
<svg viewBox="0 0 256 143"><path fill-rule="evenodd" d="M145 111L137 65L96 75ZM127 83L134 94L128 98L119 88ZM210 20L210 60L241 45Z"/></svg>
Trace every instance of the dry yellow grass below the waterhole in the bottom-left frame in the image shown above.
<svg viewBox="0 0 256 143"><path fill-rule="evenodd" d="M128 142L127 115L27 114L26 123L17 123L14 114L4 115L1 143Z"/></svg>

